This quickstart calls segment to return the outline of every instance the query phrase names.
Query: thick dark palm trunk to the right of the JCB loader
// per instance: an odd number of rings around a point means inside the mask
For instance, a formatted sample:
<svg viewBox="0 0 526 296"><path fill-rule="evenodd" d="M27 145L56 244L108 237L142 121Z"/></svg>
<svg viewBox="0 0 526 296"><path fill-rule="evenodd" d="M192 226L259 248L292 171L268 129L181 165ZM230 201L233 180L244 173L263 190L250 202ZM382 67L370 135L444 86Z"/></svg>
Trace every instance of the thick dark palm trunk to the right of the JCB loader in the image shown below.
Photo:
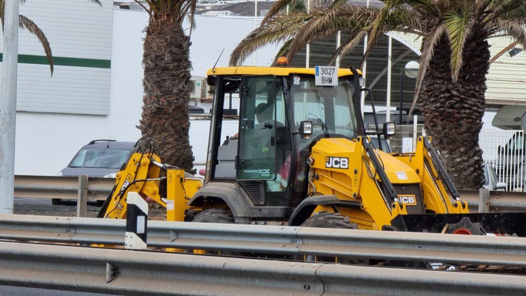
<svg viewBox="0 0 526 296"><path fill-rule="evenodd" d="M477 33L480 32L473 31L466 42L464 63L456 83L451 80L448 38L441 38L421 92L424 129L432 137L459 189L478 189L483 180L479 133L490 51L485 36Z"/></svg>

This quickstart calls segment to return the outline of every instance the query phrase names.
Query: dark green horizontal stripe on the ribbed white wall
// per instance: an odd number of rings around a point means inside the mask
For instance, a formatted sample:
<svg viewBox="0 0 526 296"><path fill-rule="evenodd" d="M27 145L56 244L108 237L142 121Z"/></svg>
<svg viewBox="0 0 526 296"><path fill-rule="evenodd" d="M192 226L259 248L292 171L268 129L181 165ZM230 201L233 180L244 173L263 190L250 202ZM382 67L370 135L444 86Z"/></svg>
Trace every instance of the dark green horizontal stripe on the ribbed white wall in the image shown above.
<svg viewBox="0 0 526 296"><path fill-rule="evenodd" d="M0 61L2 61L4 54L0 53ZM19 54L18 63L21 64L37 64L49 65L47 57L43 55L28 55ZM110 60L97 60L95 58L77 58L77 57L63 57L54 56L53 64L55 66L73 66L73 67L88 67L88 68L104 68L109 69L112 66Z"/></svg>

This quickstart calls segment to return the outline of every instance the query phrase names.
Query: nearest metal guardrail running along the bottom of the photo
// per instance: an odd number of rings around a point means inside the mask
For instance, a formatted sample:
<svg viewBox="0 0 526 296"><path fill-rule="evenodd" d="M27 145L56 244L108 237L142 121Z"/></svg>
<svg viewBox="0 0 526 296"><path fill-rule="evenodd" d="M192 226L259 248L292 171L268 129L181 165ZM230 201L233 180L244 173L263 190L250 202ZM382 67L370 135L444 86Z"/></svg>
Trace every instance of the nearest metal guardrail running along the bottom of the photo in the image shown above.
<svg viewBox="0 0 526 296"><path fill-rule="evenodd" d="M518 295L520 275L0 242L0 284L120 295Z"/></svg>

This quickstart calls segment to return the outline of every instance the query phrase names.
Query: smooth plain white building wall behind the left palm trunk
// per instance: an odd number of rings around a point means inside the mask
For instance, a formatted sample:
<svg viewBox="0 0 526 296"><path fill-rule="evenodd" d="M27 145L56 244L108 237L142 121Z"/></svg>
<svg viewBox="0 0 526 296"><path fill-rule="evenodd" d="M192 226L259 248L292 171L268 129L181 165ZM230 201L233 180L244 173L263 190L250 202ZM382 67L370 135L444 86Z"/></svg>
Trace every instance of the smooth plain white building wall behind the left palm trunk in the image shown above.
<svg viewBox="0 0 526 296"><path fill-rule="evenodd" d="M190 58L193 75L206 76L222 48L225 52L218 66L227 66L230 52L254 26L247 17L197 16L197 29L192 32ZM17 112L15 173L23 175L56 175L75 153L94 139L136 141L140 131L143 86L144 28L148 15L143 12L113 12L112 68L109 115ZM259 51L250 64L268 65L275 50ZM94 89L93 91L97 91ZM75 94L71 94L74 96ZM209 107L208 107L209 108ZM205 107L205 110L208 111ZM224 135L237 132L236 122L225 123ZM206 161L208 121L192 121L190 143L196 162Z"/></svg>

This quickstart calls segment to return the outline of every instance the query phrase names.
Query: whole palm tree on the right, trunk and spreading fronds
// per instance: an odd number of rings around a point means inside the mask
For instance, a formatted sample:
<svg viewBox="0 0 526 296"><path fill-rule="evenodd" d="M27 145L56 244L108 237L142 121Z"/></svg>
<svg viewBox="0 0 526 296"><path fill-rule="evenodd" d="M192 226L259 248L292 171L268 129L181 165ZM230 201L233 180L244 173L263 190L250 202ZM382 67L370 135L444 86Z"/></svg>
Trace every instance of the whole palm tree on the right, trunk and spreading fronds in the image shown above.
<svg viewBox="0 0 526 296"><path fill-rule="evenodd" d="M267 42L265 36L271 34L264 28L283 17L277 8L286 1L281 0L275 4L276 9L270 9L272 15L257 29L262 32L261 36L252 32L238 45L234 53L242 54L232 55L232 64L239 64L252 48ZM326 12L313 11L313 16L304 16L305 21L294 23L299 27L296 32L272 42L285 42L281 51L291 58L306 43L323 37L322 32L330 28L332 32L347 29L351 33L333 56L352 50L366 34L369 36L367 52L389 31L422 36L420 69L411 112L420 95L424 129L433 137L451 178L459 188L479 188L483 172L478 142L490 59L487 40L494 36L510 36L526 47L526 0L386 0L383 4L376 11L376 8L367 9L372 10L370 18L349 30L342 23L360 6L345 1L333 3Z"/></svg>

